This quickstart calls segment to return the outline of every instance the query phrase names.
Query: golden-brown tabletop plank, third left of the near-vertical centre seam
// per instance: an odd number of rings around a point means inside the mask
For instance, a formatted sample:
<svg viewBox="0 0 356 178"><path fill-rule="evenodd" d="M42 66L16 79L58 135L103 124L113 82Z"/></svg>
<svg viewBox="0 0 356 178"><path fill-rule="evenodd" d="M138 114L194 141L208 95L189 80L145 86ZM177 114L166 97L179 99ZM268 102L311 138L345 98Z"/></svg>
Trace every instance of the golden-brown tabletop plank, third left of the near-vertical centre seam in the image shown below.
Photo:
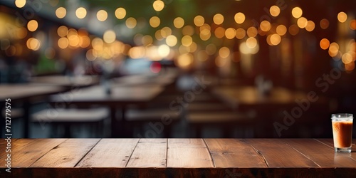
<svg viewBox="0 0 356 178"><path fill-rule="evenodd" d="M70 139L54 147L30 167L74 167L100 139Z"/></svg>

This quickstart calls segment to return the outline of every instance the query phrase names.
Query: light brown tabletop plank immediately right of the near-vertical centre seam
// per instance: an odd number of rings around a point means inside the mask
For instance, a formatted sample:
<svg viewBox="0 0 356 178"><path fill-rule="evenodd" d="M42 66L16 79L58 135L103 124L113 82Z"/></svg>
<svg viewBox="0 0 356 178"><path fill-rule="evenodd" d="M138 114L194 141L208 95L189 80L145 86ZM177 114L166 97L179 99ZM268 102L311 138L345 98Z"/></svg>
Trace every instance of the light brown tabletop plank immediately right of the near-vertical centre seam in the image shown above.
<svg viewBox="0 0 356 178"><path fill-rule="evenodd" d="M167 167L214 167L202 139L168 139Z"/></svg>

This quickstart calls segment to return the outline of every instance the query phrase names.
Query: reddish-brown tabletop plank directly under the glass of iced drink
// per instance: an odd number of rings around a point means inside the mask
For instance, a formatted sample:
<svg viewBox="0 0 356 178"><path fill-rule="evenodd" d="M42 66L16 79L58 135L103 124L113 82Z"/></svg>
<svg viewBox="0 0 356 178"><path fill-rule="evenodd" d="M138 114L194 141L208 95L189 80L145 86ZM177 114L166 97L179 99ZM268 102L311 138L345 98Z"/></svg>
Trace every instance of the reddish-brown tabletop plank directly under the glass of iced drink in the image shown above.
<svg viewBox="0 0 356 178"><path fill-rule="evenodd" d="M320 167L356 167L356 152L335 154L334 148L318 140L295 139L285 142Z"/></svg>

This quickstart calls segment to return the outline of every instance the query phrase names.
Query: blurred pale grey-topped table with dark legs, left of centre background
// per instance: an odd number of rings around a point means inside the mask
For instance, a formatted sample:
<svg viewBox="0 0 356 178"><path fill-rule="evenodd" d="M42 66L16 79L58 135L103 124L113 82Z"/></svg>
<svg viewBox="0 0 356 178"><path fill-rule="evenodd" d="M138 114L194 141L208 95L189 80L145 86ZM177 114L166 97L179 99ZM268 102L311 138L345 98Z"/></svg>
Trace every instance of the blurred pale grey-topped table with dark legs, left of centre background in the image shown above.
<svg viewBox="0 0 356 178"><path fill-rule="evenodd" d="M93 105L107 105L111 112L111 136L117 137L116 108L122 108L122 121L125 122L125 108L130 104L149 104L164 88L160 85L132 85L110 86L95 85L88 88L71 90L68 93L51 96L51 103L75 104L90 107Z"/></svg>

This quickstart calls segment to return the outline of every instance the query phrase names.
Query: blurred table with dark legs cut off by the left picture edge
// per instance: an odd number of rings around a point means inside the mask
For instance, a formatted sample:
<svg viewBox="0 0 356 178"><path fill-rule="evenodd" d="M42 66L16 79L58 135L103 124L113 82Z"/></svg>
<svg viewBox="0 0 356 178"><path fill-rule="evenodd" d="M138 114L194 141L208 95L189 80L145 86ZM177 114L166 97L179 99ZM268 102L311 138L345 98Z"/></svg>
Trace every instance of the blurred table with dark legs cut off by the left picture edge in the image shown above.
<svg viewBox="0 0 356 178"><path fill-rule="evenodd" d="M24 137L28 137L29 134L29 109L31 106L31 99L38 97L46 97L55 93L61 93L66 91L66 88L56 85L35 85L31 83L22 84L1 84L0 85L0 109L1 113L5 107L6 98L11 99L11 108L14 108L15 103L22 103L23 106L23 131ZM4 121L3 115L1 120ZM1 130L5 128L5 121L1 122Z"/></svg>

